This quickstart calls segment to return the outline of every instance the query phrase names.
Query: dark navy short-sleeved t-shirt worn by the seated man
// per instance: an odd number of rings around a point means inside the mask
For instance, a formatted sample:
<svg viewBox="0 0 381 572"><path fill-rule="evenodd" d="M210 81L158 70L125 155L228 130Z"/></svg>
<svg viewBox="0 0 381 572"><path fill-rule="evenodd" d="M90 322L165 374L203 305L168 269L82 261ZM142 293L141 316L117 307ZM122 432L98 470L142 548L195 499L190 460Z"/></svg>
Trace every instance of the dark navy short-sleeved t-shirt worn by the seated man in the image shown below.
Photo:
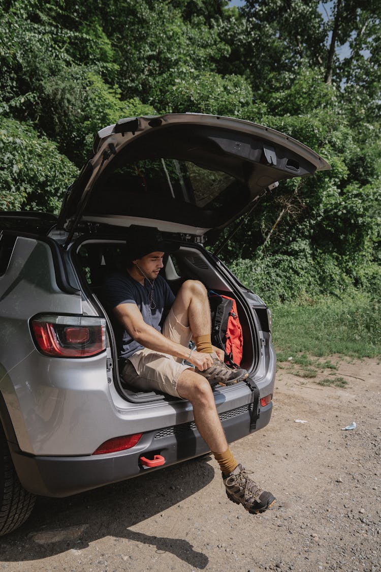
<svg viewBox="0 0 381 572"><path fill-rule="evenodd" d="M129 273L114 273L106 278L103 284L103 296L107 309L113 309L119 304L136 304L142 313L143 320L146 324L161 332L161 321L163 315L166 316L175 296L171 291L167 282L162 276L158 276L154 281L154 302L156 308L150 309L151 285L145 279L145 285L137 282L129 275ZM138 349L142 349L142 345L123 330L122 340L118 340L120 357L128 359Z"/></svg>

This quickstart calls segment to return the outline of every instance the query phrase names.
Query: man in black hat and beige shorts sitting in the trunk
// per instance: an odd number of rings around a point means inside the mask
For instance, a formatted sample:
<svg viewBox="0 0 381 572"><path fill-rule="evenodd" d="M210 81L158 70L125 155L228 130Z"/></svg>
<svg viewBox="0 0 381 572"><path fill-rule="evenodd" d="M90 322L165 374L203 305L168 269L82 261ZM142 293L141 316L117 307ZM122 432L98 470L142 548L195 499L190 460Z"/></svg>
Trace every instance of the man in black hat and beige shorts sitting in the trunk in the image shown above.
<svg viewBox="0 0 381 572"><path fill-rule="evenodd" d="M262 513L275 498L236 462L212 393L212 386L231 385L248 374L228 368L222 361L223 351L212 347L210 307L203 284L187 280L175 297L159 275L171 246L148 231L144 236L137 232L131 244L126 272L110 276L105 283L108 305L123 327L122 376L141 391L159 390L188 399L198 431L219 463L228 498L250 513ZM195 349L189 348L191 339Z"/></svg>

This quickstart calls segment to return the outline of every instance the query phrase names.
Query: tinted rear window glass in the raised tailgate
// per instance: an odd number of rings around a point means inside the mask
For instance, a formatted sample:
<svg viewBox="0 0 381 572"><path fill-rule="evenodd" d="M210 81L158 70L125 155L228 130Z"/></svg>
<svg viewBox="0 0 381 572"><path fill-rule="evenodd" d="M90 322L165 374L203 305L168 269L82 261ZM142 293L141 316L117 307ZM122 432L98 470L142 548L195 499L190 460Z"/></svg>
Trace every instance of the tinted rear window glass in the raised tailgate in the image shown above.
<svg viewBox="0 0 381 572"><path fill-rule="evenodd" d="M234 219L250 200L248 186L231 174L192 161L149 158L117 165L100 177L87 211L215 228Z"/></svg>

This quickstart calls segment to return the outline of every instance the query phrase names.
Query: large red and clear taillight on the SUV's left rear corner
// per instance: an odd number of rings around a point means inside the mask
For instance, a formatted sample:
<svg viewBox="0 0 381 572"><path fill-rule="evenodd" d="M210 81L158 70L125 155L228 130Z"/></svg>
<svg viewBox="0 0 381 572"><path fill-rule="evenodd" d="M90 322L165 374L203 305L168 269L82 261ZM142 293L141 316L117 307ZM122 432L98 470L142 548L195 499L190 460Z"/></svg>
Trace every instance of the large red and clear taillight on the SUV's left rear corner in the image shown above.
<svg viewBox="0 0 381 572"><path fill-rule="evenodd" d="M41 315L31 320L37 348L55 358L87 358L106 349L106 320L90 316Z"/></svg>

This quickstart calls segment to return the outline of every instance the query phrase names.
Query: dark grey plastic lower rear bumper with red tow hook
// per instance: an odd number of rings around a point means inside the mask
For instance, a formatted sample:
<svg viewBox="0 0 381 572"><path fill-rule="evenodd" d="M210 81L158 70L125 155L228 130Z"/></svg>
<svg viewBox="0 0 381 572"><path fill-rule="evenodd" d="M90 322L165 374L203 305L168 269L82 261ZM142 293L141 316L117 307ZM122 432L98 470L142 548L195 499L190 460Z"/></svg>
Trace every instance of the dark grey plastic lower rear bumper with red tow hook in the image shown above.
<svg viewBox="0 0 381 572"><path fill-rule="evenodd" d="M270 422L272 403L261 408L256 431ZM233 412L231 412L233 414ZM250 407L240 407L222 420L228 443L250 434ZM141 456L165 458L162 467L192 459L209 452L194 423L185 423L144 434L139 443L126 451L106 455L32 456L12 449L14 466L26 490L43 496L69 496L105 484L130 479L149 470L139 462Z"/></svg>

